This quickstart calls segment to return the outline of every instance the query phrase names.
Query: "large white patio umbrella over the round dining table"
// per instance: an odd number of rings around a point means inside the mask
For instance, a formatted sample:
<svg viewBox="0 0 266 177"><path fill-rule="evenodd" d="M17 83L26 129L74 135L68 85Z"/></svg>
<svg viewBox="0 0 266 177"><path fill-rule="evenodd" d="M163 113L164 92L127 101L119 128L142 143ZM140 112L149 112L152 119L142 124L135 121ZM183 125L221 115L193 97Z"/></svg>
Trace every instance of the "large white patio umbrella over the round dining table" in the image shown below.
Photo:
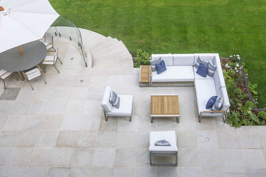
<svg viewBox="0 0 266 177"><path fill-rule="evenodd" d="M0 6L0 53L41 39L60 16L48 0L1 0Z"/></svg>

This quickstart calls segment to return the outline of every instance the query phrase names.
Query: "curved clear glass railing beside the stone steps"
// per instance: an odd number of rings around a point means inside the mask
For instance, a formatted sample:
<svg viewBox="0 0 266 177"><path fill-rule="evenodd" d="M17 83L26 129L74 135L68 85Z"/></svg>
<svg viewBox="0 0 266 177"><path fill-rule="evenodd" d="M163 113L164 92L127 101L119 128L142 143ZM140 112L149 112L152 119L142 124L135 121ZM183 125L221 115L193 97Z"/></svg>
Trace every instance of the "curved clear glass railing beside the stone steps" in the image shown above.
<svg viewBox="0 0 266 177"><path fill-rule="evenodd" d="M82 44L82 37L81 37L80 30L71 20L63 16L59 16L54 21L54 23L51 25L51 27L47 30L47 33L53 36L59 35L59 36L68 37L69 40L75 41L78 44L78 46L81 47L81 51L82 51L81 58L84 59L86 67L88 66L86 53L84 51L83 44Z"/></svg>

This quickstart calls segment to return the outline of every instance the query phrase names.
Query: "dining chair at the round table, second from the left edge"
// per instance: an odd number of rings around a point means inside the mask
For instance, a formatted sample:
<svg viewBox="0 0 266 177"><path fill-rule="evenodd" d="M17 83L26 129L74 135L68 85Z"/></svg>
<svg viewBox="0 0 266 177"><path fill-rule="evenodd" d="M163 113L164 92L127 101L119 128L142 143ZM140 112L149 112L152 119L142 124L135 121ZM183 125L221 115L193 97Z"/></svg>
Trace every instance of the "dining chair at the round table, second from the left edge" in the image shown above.
<svg viewBox="0 0 266 177"><path fill-rule="evenodd" d="M43 75L41 75L41 68L38 64L30 69L22 71L22 73L30 85L31 85L31 81L38 79L39 77L43 78ZM43 81L46 84L44 78L43 78ZM32 90L34 90L32 85L31 85L31 88Z"/></svg>

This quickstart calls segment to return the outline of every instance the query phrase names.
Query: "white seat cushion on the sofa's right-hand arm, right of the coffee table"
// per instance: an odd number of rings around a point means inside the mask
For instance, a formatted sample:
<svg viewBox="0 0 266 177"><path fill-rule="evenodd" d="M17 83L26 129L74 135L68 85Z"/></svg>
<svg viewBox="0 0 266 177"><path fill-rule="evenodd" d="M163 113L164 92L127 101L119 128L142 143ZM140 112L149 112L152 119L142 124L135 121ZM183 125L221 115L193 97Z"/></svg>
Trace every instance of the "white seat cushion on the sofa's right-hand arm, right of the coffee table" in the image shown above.
<svg viewBox="0 0 266 177"><path fill-rule="evenodd" d="M198 114L200 111L211 111L206 109L206 104L210 97L216 96L215 84L213 79L195 79L195 91L198 105Z"/></svg>

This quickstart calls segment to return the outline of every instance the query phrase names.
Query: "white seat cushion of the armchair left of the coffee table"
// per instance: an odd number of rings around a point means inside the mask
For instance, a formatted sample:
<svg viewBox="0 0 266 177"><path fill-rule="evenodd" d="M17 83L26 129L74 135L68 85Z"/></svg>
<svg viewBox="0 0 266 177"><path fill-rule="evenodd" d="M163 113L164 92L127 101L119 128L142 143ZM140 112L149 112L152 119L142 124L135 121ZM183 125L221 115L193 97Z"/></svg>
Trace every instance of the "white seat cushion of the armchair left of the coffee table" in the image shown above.
<svg viewBox="0 0 266 177"><path fill-rule="evenodd" d="M110 115L131 116L133 107L133 95L118 95L120 97L119 109L112 107L112 111L108 112Z"/></svg>

